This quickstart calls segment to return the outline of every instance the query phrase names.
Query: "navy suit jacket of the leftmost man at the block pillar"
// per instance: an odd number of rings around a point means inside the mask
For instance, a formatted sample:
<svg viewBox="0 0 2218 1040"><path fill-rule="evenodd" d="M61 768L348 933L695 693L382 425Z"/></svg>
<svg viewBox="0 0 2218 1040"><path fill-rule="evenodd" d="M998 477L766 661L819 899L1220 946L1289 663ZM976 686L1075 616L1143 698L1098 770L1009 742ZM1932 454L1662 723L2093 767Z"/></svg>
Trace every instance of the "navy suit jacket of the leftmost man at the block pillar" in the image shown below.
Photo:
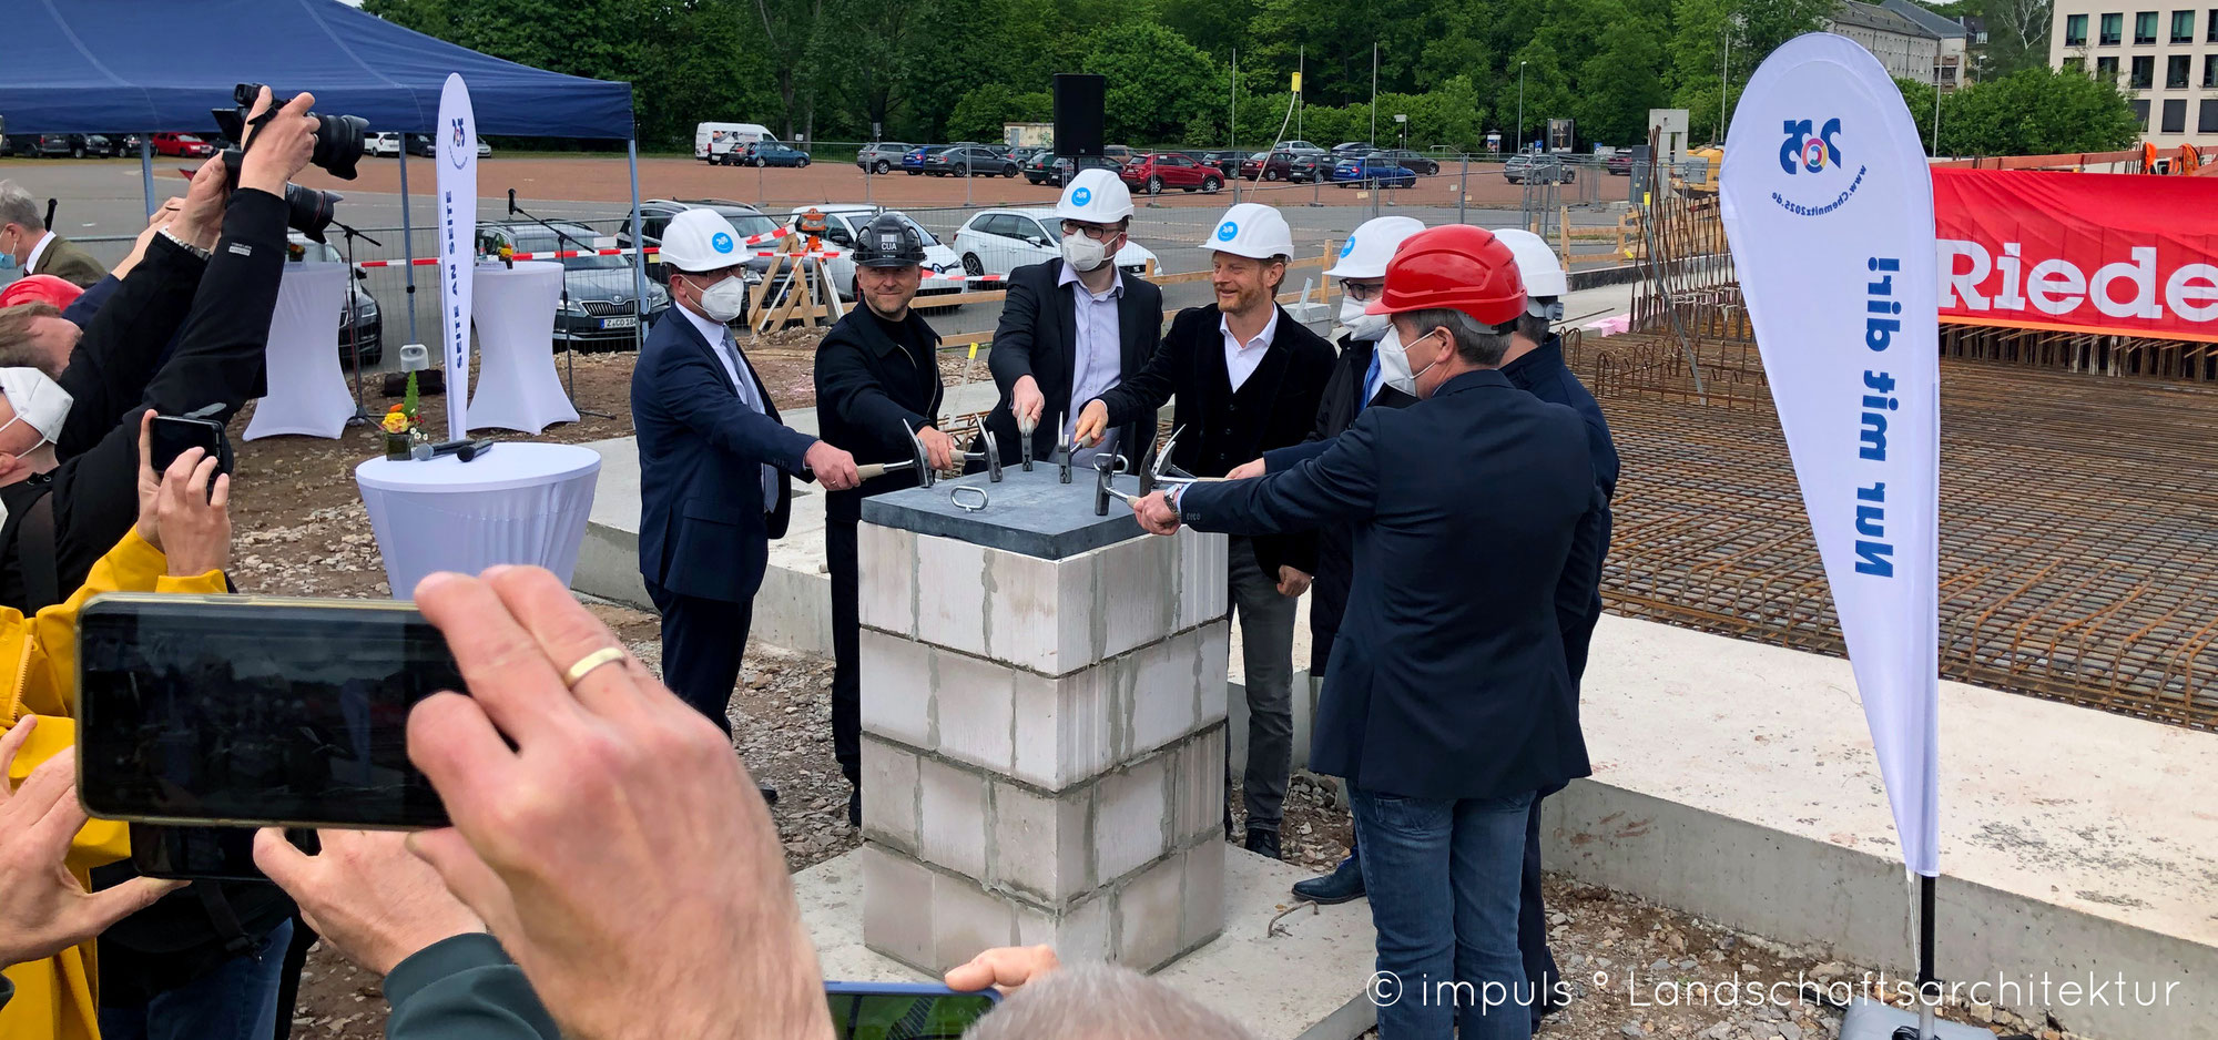
<svg viewBox="0 0 2218 1040"><path fill-rule="evenodd" d="M785 479L763 510L763 463L807 479L801 457L816 437L785 428L752 364L745 375L767 415L747 408L679 304L654 322L632 368L639 574L681 597L754 599L792 510Z"/></svg>

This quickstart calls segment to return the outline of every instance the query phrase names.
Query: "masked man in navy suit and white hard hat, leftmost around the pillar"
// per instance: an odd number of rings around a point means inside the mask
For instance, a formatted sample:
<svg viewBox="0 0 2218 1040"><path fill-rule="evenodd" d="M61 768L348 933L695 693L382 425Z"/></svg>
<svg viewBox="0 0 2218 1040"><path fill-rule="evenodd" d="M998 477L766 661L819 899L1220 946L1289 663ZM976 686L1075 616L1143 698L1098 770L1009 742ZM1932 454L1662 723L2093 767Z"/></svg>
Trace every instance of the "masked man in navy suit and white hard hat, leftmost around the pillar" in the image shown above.
<svg viewBox="0 0 2218 1040"><path fill-rule="evenodd" d="M663 614L663 683L725 716L754 621L770 539L785 534L790 477L856 486L854 457L785 428L725 322L747 286L739 233L690 208L663 231L670 299L632 368L639 428L639 577Z"/></svg>

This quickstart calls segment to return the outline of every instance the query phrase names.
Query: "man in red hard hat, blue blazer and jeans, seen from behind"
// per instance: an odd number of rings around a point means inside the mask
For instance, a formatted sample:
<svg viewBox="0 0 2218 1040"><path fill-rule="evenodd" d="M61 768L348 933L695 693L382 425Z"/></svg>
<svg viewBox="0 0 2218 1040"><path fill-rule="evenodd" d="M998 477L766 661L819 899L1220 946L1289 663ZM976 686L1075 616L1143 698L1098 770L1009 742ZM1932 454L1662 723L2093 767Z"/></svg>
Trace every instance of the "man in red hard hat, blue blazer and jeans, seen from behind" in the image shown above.
<svg viewBox="0 0 2218 1040"><path fill-rule="evenodd" d="M1156 534L1353 530L1309 763L1349 783L1377 978L1406 987L1382 993L1384 1040L1533 1036L1526 812L1590 774L1555 597L1595 477L1579 412L1499 373L1524 308L1488 231L1413 235L1366 310L1391 317L1380 350L1408 361L1417 404L1366 408L1266 477L1133 501Z"/></svg>

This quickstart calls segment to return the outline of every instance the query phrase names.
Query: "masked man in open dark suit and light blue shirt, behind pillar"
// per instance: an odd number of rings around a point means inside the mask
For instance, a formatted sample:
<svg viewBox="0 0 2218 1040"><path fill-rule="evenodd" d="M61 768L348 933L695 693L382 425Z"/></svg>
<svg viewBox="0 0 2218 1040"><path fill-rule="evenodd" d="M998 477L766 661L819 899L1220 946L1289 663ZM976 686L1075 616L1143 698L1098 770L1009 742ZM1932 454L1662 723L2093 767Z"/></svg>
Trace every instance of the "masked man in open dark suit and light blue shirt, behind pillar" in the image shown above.
<svg viewBox="0 0 2218 1040"><path fill-rule="evenodd" d="M1031 430L1036 459L1069 443L1078 406L1138 375L1162 344L1162 288L1125 277L1116 266L1131 226L1125 182L1102 169L1080 171L1062 188L1056 217L1062 220L1062 259L1009 273L1009 297L987 357L1000 401L985 428L1011 459L1022 430ZM1113 452L1153 432L1153 415L1133 419L1098 450Z"/></svg>

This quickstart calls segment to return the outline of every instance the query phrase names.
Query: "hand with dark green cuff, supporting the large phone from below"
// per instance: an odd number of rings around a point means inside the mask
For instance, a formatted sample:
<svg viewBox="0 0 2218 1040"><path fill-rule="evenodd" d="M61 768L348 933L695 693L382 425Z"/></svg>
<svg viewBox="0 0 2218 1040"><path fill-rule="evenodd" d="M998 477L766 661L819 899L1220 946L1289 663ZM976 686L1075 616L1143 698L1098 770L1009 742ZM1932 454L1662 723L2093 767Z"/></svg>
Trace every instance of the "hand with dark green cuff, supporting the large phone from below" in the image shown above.
<svg viewBox="0 0 2218 1040"><path fill-rule="evenodd" d="M268 874L317 936L348 960L393 973L415 951L444 938L486 931L439 871L408 852L399 832L315 832L324 852L308 856L277 827L255 834L255 867Z"/></svg>

